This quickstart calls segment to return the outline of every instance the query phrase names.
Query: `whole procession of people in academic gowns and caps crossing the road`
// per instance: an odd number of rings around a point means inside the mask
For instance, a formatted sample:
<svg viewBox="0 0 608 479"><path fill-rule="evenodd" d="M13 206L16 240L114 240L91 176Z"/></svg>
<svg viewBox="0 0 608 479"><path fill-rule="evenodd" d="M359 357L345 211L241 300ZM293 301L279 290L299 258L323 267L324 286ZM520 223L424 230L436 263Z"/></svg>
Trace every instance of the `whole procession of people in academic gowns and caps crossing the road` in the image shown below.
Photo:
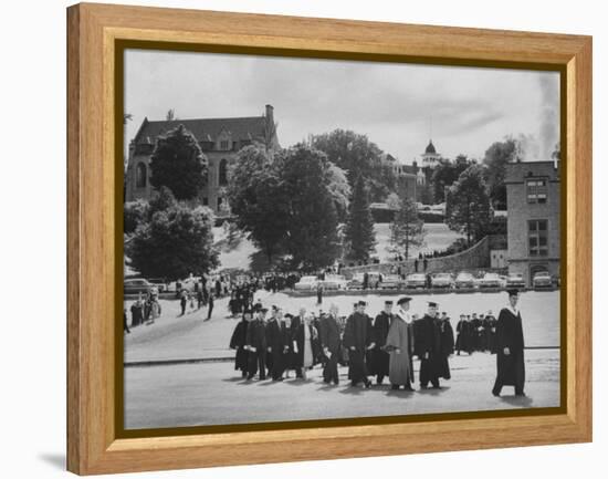
<svg viewBox="0 0 608 479"><path fill-rule="evenodd" d="M407 392L441 389L450 379L450 356L475 351L496 355L495 377L489 377L489 394L500 396L503 386L513 386L515 396L525 396L525 362L522 315L517 309L520 291L505 293L505 305L495 319L492 312L462 314L457 334L439 304L427 301L423 314L416 299L401 296L385 301L375 317L365 301L353 304L348 316L340 316L335 304L327 313L285 313L280 306L270 310L261 301L249 304L230 339L235 351L234 369L245 382L305 381L313 367L321 365L326 385L339 384L338 365L348 366L350 387L369 389L387 379L391 389ZM420 361L415 377L413 358ZM292 376L293 373L293 376ZM375 379L375 381L374 381Z"/></svg>

